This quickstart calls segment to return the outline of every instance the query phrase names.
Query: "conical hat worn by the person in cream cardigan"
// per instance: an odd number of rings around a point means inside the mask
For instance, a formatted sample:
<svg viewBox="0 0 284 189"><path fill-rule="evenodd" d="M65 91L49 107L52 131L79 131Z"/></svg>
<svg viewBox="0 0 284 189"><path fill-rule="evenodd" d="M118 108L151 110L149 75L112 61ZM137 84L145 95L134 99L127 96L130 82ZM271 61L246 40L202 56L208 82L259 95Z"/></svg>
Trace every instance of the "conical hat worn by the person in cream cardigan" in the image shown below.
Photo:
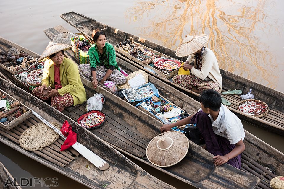
<svg viewBox="0 0 284 189"><path fill-rule="evenodd" d="M208 35L185 35L183 39L183 43L181 43L177 50L175 51L175 55L178 57L184 57L191 55L201 49L208 40Z"/></svg>

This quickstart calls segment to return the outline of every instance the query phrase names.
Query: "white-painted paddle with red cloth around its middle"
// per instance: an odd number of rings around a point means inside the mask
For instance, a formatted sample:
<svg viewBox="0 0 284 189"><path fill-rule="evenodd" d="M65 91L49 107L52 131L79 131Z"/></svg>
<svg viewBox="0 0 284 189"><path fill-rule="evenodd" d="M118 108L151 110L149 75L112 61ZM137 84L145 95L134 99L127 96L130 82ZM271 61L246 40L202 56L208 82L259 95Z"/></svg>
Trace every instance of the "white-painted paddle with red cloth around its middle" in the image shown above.
<svg viewBox="0 0 284 189"><path fill-rule="evenodd" d="M32 112L33 112L33 115L35 115L35 117L40 119L44 124L52 128L57 134L62 136L64 139L66 139L66 137L61 133L61 131L59 131L59 129L54 127L51 123L46 121L43 117L38 115L35 111L32 110ZM104 159L99 157L97 154L93 153L91 150L87 149L85 146L83 146L79 142L76 142L75 144L73 144L72 147L75 150L77 150L88 161L90 161L94 166L96 166L99 170L104 171L109 168L109 164Z"/></svg>

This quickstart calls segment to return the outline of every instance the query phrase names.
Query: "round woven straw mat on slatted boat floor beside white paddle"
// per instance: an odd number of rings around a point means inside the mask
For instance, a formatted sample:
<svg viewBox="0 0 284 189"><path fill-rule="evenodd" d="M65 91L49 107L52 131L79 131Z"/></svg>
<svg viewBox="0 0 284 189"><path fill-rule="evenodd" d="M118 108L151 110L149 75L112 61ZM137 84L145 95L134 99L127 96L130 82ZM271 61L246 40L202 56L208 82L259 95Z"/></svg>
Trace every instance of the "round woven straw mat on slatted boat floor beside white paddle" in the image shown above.
<svg viewBox="0 0 284 189"><path fill-rule="evenodd" d="M60 130L61 126L56 122L51 122ZM42 150L59 139L59 135L44 123L38 123L27 130L20 136L20 146L29 151Z"/></svg>

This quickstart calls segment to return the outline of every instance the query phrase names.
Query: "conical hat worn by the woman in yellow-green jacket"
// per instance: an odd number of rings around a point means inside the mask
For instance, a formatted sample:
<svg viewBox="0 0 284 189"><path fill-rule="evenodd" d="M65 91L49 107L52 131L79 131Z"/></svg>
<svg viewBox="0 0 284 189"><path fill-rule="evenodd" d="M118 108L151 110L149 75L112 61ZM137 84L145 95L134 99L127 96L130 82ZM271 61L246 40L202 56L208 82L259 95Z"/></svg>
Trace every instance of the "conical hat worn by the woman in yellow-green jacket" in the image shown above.
<svg viewBox="0 0 284 189"><path fill-rule="evenodd" d="M43 53L41 54L41 57L39 57L38 61L43 61L43 59L48 58L50 55L54 53L58 53L61 50L67 50L72 48L73 45L66 45L62 43L54 43L49 42Z"/></svg>

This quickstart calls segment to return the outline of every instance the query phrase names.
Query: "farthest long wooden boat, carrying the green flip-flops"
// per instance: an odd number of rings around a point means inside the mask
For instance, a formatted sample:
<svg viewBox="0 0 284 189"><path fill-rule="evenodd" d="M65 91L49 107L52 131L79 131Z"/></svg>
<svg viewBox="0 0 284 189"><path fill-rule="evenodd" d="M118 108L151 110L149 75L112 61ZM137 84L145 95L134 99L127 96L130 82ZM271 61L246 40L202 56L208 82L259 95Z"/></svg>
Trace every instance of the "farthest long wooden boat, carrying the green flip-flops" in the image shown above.
<svg viewBox="0 0 284 189"><path fill-rule="evenodd" d="M166 48L162 45L158 45L151 41L146 40L144 43L142 43L139 41L138 36L120 30L117 31L117 29L114 27L97 22L92 18L86 17L76 12L67 12L65 14L61 14L60 17L64 19L66 22L68 22L70 25L75 27L78 31L89 37L93 29L96 28L103 29L104 32L106 32L107 38L112 45L117 45L119 42L124 41L125 39L128 39L130 37L133 37L135 42L138 42L160 53L166 54L167 56L179 59L181 61L185 61L187 58L187 57L182 57L182 58L177 57L175 56L174 50ZM189 97L198 100L197 93L192 92L183 87L180 87L179 85L174 84L170 80L164 79L159 75L153 74L148 69L145 69L144 65L135 63L134 61L125 58L123 55L119 53L117 53L117 57L120 57L125 61L127 61L128 63L134 65L135 67L146 71L149 75L158 78L160 81L174 87L175 89L178 89L180 92L183 92ZM241 89L243 92L246 93L249 91L249 89L252 89L255 97L265 101L269 106L269 112L267 115L261 118L256 118L252 115L248 115L237 110L237 105L241 101L238 95L226 95L224 97L227 98L230 102L232 102L232 105L228 107L231 111L233 111L236 115L238 115L238 117L241 120L249 122L257 127L264 128L267 131L275 132L277 134L284 136L284 93L266 87L262 84L258 84L256 82L253 82L249 79L243 78L236 74L230 73L223 69L220 69L220 73L222 75L223 91L234 88L234 89ZM167 88L165 84L164 88Z"/></svg>

